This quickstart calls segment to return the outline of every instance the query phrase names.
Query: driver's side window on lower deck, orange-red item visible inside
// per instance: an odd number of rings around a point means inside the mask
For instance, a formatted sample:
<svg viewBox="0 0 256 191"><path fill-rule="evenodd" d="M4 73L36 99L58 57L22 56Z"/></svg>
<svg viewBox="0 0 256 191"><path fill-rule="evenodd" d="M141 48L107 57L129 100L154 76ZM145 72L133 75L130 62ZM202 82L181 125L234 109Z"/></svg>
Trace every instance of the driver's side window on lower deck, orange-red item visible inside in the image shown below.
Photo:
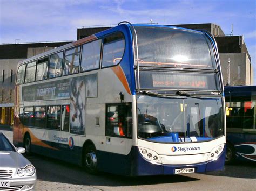
<svg viewBox="0 0 256 191"><path fill-rule="evenodd" d="M106 136L132 137L131 103L106 105Z"/></svg>

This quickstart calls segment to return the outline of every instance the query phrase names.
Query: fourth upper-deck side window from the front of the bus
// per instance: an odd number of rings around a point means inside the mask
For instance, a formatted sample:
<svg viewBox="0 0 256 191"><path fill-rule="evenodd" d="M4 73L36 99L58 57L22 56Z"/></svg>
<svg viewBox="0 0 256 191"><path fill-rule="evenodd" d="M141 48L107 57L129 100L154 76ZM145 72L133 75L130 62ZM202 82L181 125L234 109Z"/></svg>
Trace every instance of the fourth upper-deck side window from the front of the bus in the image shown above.
<svg viewBox="0 0 256 191"><path fill-rule="evenodd" d="M62 75L63 52L52 54L49 63L49 78Z"/></svg>

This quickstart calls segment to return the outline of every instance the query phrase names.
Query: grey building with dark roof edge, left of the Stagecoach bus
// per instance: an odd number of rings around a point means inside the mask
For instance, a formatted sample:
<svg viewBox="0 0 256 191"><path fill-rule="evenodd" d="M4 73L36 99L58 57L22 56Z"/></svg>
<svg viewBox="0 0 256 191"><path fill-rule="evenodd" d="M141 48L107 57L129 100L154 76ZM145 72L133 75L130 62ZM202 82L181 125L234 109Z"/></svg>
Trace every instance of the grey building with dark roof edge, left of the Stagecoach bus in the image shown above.
<svg viewBox="0 0 256 191"><path fill-rule="evenodd" d="M0 45L0 125L11 126L18 62L70 42Z"/></svg>

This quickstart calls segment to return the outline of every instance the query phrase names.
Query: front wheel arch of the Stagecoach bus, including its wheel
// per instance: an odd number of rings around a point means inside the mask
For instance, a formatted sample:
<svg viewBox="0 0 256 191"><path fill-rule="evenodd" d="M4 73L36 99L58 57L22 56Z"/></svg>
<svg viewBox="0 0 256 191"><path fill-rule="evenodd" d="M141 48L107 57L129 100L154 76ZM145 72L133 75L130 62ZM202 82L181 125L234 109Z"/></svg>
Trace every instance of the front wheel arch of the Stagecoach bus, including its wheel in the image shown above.
<svg viewBox="0 0 256 191"><path fill-rule="evenodd" d="M90 174L97 174L96 147L91 140L86 140L83 145L82 165Z"/></svg>

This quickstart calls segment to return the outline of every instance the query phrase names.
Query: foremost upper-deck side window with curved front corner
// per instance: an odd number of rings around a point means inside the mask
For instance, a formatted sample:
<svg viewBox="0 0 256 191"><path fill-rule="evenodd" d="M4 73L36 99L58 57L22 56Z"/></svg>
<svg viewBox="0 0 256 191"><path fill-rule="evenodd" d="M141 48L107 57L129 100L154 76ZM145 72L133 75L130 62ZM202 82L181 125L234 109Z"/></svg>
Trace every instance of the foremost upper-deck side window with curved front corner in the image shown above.
<svg viewBox="0 0 256 191"><path fill-rule="evenodd" d="M123 57L125 40L122 32L111 34L103 41L102 67L117 65Z"/></svg>

